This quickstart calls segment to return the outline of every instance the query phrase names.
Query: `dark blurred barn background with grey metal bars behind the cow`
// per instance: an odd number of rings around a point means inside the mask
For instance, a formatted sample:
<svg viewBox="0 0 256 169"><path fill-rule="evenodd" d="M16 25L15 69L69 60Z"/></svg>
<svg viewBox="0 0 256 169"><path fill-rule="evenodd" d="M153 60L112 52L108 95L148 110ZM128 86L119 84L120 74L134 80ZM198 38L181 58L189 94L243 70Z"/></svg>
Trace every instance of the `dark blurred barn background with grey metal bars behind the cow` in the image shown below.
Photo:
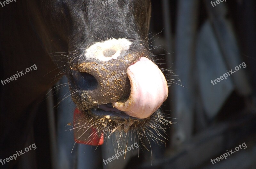
<svg viewBox="0 0 256 169"><path fill-rule="evenodd" d="M75 144L68 126L75 105L66 98L68 86L56 87L39 103L40 112L27 143L40 148L31 156L22 156L19 165L36 163L38 168L60 169L256 168L256 1L215 4L210 0L152 0L150 48L159 67L171 70L166 77L172 82L169 97L161 107L173 123L165 129L166 135L163 133L168 140L158 144L150 140L151 151L140 146L125 159L104 165L102 160L115 154L115 138L98 147ZM217 79L229 70L236 72L227 79ZM55 86L66 82L63 77ZM212 164L211 159L243 143L246 148Z"/></svg>

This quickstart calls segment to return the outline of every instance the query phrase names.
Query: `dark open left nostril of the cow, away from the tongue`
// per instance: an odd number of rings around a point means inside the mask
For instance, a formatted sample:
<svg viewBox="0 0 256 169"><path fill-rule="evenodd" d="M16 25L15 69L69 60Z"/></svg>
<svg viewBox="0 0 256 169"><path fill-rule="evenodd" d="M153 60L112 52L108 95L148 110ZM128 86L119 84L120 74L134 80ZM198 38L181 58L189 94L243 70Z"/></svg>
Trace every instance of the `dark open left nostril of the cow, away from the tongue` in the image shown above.
<svg viewBox="0 0 256 169"><path fill-rule="evenodd" d="M98 86L98 82L95 77L86 72L73 71L73 79L76 86L80 90L93 90Z"/></svg>

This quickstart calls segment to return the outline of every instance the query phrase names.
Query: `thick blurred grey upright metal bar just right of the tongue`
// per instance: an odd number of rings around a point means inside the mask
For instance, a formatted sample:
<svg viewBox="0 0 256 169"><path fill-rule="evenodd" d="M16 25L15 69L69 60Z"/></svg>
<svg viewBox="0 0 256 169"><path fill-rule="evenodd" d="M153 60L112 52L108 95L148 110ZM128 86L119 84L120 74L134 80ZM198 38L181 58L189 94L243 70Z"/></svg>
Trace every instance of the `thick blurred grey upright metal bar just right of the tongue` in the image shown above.
<svg viewBox="0 0 256 169"><path fill-rule="evenodd" d="M198 15L198 0L180 0L178 2L178 21L176 28L176 74L182 80L181 87L174 85L174 116L172 145L178 146L192 137L195 110L195 82L193 70L195 65L195 42Z"/></svg>

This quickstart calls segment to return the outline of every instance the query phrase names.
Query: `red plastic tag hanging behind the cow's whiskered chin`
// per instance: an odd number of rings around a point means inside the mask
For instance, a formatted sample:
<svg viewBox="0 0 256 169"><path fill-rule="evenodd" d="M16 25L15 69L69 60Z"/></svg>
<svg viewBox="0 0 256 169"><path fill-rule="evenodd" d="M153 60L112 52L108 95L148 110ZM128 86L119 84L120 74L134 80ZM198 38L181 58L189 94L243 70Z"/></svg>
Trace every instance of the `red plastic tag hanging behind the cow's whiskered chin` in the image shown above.
<svg viewBox="0 0 256 169"><path fill-rule="evenodd" d="M74 111L73 124L75 124L74 121L77 119L77 117L79 117L80 114L81 112L76 108ZM80 124L79 126L83 126L83 124ZM85 126L83 126L81 128L74 129L74 138L75 138L75 142L80 144L98 146L98 145L102 145L104 142L103 133L98 133L97 129L93 127L91 127L91 129L88 129Z"/></svg>

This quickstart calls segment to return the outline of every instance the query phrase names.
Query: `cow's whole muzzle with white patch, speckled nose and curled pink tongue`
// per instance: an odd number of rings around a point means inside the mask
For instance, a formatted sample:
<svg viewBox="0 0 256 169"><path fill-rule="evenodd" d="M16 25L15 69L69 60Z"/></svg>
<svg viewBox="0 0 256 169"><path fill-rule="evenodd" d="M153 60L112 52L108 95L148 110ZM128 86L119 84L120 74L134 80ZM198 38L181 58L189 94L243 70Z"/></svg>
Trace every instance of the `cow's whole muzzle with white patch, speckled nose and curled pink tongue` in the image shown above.
<svg viewBox="0 0 256 169"><path fill-rule="evenodd" d="M73 62L72 86L80 90L73 100L80 97L80 109L122 123L148 118L162 105L168 96L165 77L147 49L135 49L127 39L107 40Z"/></svg>

